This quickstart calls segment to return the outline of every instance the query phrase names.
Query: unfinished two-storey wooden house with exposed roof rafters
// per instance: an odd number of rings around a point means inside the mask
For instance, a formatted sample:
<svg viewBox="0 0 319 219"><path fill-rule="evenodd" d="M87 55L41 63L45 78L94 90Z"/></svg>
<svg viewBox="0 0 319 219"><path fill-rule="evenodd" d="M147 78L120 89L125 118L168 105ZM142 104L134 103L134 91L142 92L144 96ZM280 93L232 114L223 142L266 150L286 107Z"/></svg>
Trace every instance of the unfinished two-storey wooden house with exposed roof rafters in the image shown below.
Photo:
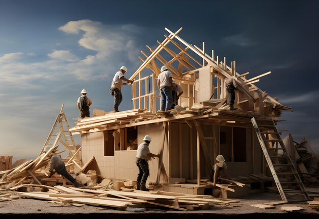
<svg viewBox="0 0 319 219"><path fill-rule="evenodd" d="M255 85L270 72L249 79L248 72L236 71L235 61L227 62L214 51L208 55L204 43L200 48L179 37L181 30L166 29L163 42L157 41L154 49L147 46L150 55L142 51L143 63L130 77L134 109L117 113L94 109L93 117L78 120L70 129L81 134L82 163L94 156L101 175L136 180L137 145L150 135L150 151L161 157L149 161L148 182L161 182L167 191L203 194L211 185L203 186L200 180L209 178L218 154L226 159L230 177L265 173L271 161L264 158L261 141L273 151L278 148L282 140L274 137L279 136L277 118L282 110L291 110ZM179 106L167 112L157 112L161 97L156 82L162 65L183 89ZM224 86L232 77L238 84L235 111L229 110ZM274 130L256 129L253 122L260 121ZM182 179L197 179L197 186L174 184Z"/></svg>

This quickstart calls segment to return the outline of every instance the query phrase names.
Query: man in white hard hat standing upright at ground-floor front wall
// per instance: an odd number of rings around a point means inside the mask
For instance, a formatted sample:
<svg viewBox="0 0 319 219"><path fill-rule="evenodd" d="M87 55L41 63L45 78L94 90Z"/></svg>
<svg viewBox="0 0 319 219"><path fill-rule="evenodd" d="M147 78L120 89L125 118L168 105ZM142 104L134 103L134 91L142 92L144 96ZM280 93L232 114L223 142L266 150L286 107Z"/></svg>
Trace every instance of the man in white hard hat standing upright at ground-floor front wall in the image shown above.
<svg viewBox="0 0 319 219"><path fill-rule="evenodd" d="M149 143L151 142L151 137L149 135L145 135L143 138L144 142L141 143L138 147L136 153L136 165L139 167L139 174L136 182L136 188L138 190L148 191L146 188L146 180L149 176L149 168L148 161L151 158L159 157L159 154L152 154L149 151Z"/></svg>

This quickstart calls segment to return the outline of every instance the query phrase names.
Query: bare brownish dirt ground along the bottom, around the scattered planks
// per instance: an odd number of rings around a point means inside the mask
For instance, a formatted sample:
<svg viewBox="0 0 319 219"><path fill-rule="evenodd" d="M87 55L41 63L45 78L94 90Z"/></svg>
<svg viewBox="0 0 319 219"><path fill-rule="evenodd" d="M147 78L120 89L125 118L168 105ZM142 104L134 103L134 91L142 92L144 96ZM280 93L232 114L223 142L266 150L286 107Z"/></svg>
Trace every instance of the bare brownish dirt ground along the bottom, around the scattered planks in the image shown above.
<svg viewBox="0 0 319 219"><path fill-rule="evenodd" d="M237 198L239 203L233 203L228 206L216 205L209 210L188 210L178 211L168 208L146 208L144 212L132 212L127 210L115 210L99 206L84 205L82 207L71 206L69 204L54 204L44 200L35 199L16 199L12 201L0 202L0 218L11 216L32 216L32 218L43 218L57 214L67 218L82 218L92 215L93 218L140 218L147 216L154 218L247 218L247 216L271 216L273 218L285 218L284 216L302 215L303 218L318 218L319 211L311 209L306 202L277 205L274 209L260 209L250 206L251 204L264 204L267 202L281 201L279 194L273 192L256 192L249 196ZM298 212L286 212L280 209L281 206L298 206L304 210ZM301 217L300 217L301 218Z"/></svg>

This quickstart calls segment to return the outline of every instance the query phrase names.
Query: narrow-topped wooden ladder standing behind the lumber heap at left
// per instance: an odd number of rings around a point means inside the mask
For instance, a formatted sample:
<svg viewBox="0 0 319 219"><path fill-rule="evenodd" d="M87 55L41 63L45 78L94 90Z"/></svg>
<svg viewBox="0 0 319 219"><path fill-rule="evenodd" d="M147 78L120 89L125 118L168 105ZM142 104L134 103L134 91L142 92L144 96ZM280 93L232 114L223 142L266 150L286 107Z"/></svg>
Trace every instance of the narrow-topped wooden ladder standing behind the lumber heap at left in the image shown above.
<svg viewBox="0 0 319 219"><path fill-rule="evenodd" d="M55 147L58 142L60 142L68 150L68 155L66 159L73 161L79 168L81 168L81 157L78 152L81 149L76 149L72 133L70 132L70 127L67 121L67 118L63 112L64 104L62 104L61 110L55 120L54 125L49 132L49 135L43 145L43 148L40 152L40 155L43 153L43 150L46 145L49 145L51 148ZM68 162L69 164L70 162Z"/></svg>

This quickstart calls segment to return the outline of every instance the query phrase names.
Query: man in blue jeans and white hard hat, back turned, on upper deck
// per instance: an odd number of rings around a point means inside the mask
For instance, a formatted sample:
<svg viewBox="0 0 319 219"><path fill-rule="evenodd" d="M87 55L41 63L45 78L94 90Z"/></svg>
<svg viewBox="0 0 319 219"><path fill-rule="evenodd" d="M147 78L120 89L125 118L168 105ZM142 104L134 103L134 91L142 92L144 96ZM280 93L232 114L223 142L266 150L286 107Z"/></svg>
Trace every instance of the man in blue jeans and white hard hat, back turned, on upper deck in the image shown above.
<svg viewBox="0 0 319 219"><path fill-rule="evenodd" d="M163 65L161 74L157 78L157 87L161 91L161 111L168 111L172 108L172 73Z"/></svg>

